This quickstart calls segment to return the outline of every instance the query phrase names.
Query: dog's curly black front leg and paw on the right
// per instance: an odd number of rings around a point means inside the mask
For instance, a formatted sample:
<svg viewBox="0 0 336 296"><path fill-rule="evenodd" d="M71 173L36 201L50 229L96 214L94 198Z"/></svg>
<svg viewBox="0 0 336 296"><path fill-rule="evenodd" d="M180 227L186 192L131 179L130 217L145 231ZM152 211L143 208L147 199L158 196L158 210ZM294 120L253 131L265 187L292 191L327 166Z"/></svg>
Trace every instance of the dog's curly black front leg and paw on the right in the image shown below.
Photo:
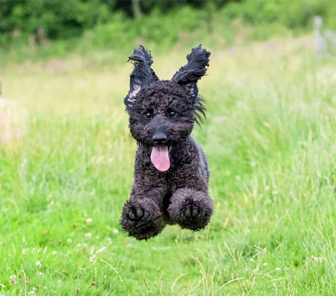
<svg viewBox="0 0 336 296"><path fill-rule="evenodd" d="M213 212L208 193L192 188L181 188L170 198L169 218L181 228L199 231L206 227Z"/></svg>

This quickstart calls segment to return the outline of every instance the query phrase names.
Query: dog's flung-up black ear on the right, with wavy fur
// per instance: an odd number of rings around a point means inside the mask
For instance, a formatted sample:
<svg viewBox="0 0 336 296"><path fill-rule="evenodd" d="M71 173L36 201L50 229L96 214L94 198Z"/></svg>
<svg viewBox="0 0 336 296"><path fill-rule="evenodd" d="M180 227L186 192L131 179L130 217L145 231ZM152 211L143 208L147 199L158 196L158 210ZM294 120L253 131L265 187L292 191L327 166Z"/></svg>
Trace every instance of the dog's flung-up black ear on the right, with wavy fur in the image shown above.
<svg viewBox="0 0 336 296"><path fill-rule="evenodd" d="M171 78L173 82L184 88L185 94L194 103L197 103L198 96L197 81L207 72L210 54L211 52L202 49L201 45L191 49L191 53L187 55L187 64L179 68Z"/></svg>

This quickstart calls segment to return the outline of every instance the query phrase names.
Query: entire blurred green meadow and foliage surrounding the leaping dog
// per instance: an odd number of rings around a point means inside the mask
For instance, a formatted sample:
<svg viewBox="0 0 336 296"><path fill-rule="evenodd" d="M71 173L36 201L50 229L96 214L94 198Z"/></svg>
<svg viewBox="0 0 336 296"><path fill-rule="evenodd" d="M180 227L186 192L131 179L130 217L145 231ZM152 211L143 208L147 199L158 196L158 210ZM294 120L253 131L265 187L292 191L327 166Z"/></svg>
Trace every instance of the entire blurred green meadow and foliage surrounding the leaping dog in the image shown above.
<svg viewBox="0 0 336 296"><path fill-rule="evenodd" d="M191 48L214 214L148 242L119 226L141 44ZM0 0L0 296L335 295L335 0Z"/></svg>

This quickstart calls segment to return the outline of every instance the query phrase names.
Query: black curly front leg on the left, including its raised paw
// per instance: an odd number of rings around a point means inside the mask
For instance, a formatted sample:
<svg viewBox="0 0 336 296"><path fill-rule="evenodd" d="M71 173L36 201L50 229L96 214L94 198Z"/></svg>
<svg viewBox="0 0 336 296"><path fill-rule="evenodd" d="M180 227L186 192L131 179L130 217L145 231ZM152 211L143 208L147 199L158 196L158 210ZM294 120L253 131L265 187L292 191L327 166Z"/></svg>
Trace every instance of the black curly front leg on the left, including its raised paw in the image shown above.
<svg viewBox="0 0 336 296"><path fill-rule="evenodd" d="M129 236L147 240L158 235L166 226L163 218L163 190L144 191L133 184L130 198L123 207L120 225Z"/></svg>

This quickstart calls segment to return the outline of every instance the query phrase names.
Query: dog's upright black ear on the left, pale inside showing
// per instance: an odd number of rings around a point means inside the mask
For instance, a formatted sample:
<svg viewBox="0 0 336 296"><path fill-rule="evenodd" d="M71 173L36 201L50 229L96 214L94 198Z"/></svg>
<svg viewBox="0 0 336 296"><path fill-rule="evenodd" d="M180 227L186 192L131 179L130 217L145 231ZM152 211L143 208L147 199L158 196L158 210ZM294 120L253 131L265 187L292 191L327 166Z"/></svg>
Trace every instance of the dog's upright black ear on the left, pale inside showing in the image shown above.
<svg viewBox="0 0 336 296"><path fill-rule="evenodd" d="M128 61L134 64L134 69L130 74L128 95L124 99L127 111L133 105L135 97L140 90L159 80L151 68L153 63L151 52L144 49L142 45L134 49Z"/></svg>

